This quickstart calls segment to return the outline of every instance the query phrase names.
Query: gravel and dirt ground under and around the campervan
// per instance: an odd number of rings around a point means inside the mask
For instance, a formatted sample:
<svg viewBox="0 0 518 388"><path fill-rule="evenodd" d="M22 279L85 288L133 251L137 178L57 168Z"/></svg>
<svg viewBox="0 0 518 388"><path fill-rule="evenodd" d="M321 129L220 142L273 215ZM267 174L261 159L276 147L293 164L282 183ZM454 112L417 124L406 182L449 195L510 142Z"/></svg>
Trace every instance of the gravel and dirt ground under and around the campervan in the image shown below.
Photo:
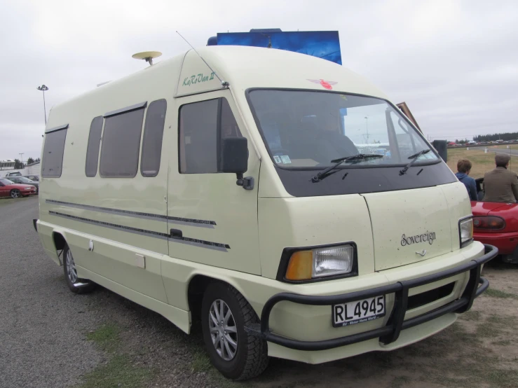
<svg viewBox="0 0 518 388"><path fill-rule="evenodd" d="M0 387L518 387L518 266L490 263L492 293L446 330L394 352L317 366L271 359L261 377L233 383L207 363L199 327L186 335L160 315L98 287L71 293L62 268L43 253L32 219L37 198L0 200ZM87 335L118 328L116 351ZM149 378L91 380L126 357ZM88 376L90 375L90 380Z"/></svg>

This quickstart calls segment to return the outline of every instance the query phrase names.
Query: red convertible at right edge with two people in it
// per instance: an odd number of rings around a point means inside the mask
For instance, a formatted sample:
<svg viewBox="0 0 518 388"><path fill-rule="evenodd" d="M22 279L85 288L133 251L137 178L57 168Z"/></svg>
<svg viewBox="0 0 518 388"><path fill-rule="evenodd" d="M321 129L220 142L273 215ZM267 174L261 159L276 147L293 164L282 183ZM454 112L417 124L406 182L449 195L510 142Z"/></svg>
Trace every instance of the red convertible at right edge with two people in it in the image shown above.
<svg viewBox="0 0 518 388"><path fill-rule="evenodd" d="M482 183L477 179L479 192ZM518 264L518 204L471 201L471 211L473 239L494 245L503 261Z"/></svg>

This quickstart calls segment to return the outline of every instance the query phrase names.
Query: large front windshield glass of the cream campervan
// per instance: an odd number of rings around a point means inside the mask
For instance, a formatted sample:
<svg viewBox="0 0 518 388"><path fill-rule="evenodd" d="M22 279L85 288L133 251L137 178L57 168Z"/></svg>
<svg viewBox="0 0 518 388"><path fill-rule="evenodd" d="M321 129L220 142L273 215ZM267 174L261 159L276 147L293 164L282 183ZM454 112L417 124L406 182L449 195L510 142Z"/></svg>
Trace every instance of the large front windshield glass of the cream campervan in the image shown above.
<svg viewBox="0 0 518 388"><path fill-rule="evenodd" d="M250 101L279 167L320 169L358 153L383 156L355 160L358 167L406 165L412 155L430 149L383 99L336 92L252 90ZM428 152L415 164L437 160L434 152Z"/></svg>

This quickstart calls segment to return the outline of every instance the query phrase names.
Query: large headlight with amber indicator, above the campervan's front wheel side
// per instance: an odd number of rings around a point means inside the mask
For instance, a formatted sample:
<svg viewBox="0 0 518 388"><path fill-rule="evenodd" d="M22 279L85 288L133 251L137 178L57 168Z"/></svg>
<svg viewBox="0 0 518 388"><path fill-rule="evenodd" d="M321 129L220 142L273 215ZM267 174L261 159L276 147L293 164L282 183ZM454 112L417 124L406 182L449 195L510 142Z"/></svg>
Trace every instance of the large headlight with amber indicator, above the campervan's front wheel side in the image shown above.
<svg viewBox="0 0 518 388"><path fill-rule="evenodd" d="M285 278L310 280L318 277L346 275L355 269L355 247L344 244L336 247L296 251L289 258Z"/></svg>

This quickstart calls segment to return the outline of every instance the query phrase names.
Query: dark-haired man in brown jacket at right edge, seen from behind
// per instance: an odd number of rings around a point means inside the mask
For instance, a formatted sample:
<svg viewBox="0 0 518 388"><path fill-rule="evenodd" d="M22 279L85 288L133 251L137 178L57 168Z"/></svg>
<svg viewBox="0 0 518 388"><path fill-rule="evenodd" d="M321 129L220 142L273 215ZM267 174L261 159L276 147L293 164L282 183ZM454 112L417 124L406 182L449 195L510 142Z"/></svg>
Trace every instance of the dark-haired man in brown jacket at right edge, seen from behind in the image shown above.
<svg viewBox="0 0 518 388"><path fill-rule="evenodd" d="M484 201L514 203L518 200L518 178L507 169L511 157L505 153L495 155L496 168L484 175Z"/></svg>

